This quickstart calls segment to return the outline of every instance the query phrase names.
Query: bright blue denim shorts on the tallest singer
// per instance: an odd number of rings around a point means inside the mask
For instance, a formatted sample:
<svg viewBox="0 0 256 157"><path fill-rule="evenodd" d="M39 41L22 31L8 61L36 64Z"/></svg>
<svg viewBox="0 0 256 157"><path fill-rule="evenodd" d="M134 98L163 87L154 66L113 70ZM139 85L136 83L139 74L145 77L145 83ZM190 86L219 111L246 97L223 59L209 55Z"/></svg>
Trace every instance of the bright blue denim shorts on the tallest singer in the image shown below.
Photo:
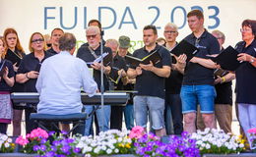
<svg viewBox="0 0 256 157"><path fill-rule="evenodd" d="M216 90L213 85L182 85L180 91L182 113L197 111L199 103L201 113L214 113Z"/></svg>

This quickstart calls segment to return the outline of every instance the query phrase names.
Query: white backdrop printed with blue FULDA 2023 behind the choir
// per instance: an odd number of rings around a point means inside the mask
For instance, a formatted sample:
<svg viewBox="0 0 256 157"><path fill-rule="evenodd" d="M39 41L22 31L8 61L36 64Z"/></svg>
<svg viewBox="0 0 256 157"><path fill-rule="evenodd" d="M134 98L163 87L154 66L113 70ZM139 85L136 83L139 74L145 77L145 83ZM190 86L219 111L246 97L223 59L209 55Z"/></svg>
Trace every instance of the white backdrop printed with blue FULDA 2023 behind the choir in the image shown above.
<svg viewBox="0 0 256 157"><path fill-rule="evenodd" d="M256 19L256 0L0 0L0 33L14 27L23 47L28 50L34 31L50 33L54 27L72 32L85 42L85 28L92 19L104 27L104 39L128 35L134 45L142 46L142 28L154 24L162 35L163 26L179 26L178 40L190 33L186 14L191 9L205 14L205 27L220 29L226 35L225 46L241 40L240 25L245 19Z"/></svg>

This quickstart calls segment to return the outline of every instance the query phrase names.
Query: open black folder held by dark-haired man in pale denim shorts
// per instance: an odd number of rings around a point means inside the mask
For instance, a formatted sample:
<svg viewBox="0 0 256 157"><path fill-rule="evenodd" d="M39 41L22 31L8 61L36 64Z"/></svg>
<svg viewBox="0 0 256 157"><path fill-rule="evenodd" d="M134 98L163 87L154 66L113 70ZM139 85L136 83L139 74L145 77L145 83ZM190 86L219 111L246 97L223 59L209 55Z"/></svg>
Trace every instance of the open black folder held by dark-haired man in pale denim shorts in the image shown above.
<svg viewBox="0 0 256 157"><path fill-rule="evenodd" d="M126 55L125 60L128 61L128 63L133 67L138 67L139 64L148 65L150 64L150 61L154 65L158 64L161 60L159 50L154 51L150 55L144 57L143 59L139 59L133 56Z"/></svg>

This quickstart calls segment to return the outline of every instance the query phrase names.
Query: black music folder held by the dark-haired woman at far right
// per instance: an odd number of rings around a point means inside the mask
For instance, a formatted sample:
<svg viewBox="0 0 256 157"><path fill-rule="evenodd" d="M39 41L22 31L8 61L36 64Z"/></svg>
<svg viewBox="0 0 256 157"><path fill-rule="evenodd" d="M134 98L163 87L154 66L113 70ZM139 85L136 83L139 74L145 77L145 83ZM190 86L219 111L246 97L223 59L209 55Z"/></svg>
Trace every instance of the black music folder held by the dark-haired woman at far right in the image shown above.
<svg viewBox="0 0 256 157"><path fill-rule="evenodd" d="M235 71L241 65L241 62L237 61L238 54L234 48L228 46L217 57L211 57L211 60L219 64L226 71Z"/></svg>

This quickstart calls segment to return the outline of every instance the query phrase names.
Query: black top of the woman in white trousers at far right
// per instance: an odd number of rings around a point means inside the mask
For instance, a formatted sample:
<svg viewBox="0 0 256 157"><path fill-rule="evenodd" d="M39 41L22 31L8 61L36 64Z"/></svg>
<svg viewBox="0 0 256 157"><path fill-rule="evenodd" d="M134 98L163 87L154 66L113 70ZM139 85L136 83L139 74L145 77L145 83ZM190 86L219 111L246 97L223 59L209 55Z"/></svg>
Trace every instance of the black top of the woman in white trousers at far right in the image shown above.
<svg viewBox="0 0 256 157"><path fill-rule="evenodd" d="M256 40L245 47L245 42L239 42L235 48L239 53L247 53L256 57ZM236 102L256 104L256 68L249 62L243 62L235 71L236 77Z"/></svg>

